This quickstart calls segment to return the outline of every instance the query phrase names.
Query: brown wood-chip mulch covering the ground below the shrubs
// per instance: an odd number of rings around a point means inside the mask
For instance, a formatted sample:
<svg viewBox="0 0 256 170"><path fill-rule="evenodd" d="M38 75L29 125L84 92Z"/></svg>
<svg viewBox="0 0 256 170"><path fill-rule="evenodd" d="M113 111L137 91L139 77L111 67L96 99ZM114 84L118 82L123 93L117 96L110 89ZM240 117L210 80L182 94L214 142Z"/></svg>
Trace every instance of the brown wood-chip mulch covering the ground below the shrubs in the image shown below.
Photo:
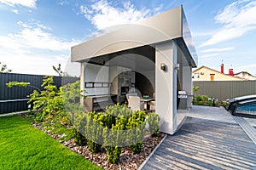
<svg viewBox="0 0 256 170"><path fill-rule="evenodd" d="M104 169L137 169L138 167L140 167L143 161L147 159L150 153L154 150L154 148L160 143L161 139L163 139L165 136L163 133L159 133L157 136L153 137L150 135L149 132L146 132L143 139L143 148L141 153L134 154L129 147L125 147L121 152L119 162L117 164L113 164L108 162L108 155L104 148L102 148L102 150L99 153L93 153L89 150L88 145L77 146L74 143L73 139L69 139L67 141L60 140L63 137L65 137L65 133L51 133L49 130L45 130L44 126L40 124L32 123L32 126L41 129L44 133L48 133L51 137L58 140L62 145L73 150L79 155L84 156L84 158L92 161L93 163Z"/></svg>

